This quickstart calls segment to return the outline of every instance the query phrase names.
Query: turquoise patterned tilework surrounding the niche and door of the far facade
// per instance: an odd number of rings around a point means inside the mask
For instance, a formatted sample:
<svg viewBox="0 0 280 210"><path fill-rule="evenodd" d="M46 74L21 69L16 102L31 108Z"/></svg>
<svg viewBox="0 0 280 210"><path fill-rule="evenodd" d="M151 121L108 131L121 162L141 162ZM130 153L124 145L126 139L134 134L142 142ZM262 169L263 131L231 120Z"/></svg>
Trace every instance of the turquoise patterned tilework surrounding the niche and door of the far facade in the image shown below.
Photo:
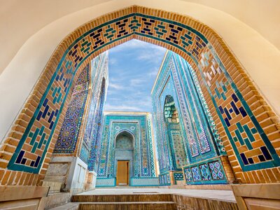
<svg viewBox="0 0 280 210"><path fill-rule="evenodd" d="M133 137L132 147L125 149L127 146L118 146L123 154L133 150L130 179L154 178L155 158L151 129L149 113L105 113L97 178L116 177L116 137L123 132Z"/></svg>

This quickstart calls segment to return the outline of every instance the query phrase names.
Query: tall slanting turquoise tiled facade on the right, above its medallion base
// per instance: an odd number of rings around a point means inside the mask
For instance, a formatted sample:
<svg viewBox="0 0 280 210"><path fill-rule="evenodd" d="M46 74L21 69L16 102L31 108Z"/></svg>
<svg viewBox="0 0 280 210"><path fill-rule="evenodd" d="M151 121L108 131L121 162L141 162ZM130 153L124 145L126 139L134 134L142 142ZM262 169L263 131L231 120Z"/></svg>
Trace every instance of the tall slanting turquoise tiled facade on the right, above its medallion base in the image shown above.
<svg viewBox="0 0 280 210"><path fill-rule="evenodd" d="M197 87L200 85L193 83L188 63L174 52L167 52L152 91L161 173L181 170L188 162L199 162L220 154L215 149L218 148L216 136L209 130L209 123L213 125L214 122L203 114L204 110L208 113L209 110L200 104L203 94L197 94ZM169 97L169 104L174 103L174 108L165 107L165 114L178 111L178 125L164 122L162 109L166 97Z"/></svg>

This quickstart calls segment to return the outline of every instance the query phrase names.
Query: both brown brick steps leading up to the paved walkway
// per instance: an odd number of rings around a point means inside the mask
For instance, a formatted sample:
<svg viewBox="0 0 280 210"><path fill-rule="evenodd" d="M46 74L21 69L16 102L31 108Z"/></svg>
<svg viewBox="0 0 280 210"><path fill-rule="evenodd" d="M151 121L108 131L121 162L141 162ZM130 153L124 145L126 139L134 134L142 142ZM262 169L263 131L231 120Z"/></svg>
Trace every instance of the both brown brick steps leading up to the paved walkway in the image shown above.
<svg viewBox="0 0 280 210"><path fill-rule="evenodd" d="M171 194L73 195L71 202L79 202L81 210L176 209Z"/></svg>

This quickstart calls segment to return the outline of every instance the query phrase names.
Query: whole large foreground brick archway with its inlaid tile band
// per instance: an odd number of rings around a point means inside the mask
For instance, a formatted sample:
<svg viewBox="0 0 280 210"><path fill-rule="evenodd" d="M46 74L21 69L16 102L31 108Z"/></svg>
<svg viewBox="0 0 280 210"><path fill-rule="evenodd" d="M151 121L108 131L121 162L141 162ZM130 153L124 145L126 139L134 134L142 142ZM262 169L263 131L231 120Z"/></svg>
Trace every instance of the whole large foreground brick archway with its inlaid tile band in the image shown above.
<svg viewBox="0 0 280 210"><path fill-rule="evenodd" d="M36 185L43 179L79 72L93 57L132 38L172 50L193 66L235 176L242 183L269 182L269 168L279 166L277 119L222 38L193 18L140 6L94 19L59 44L5 140L1 167L3 175L12 174L9 182L28 177L28 185ZM38 120L47 106L57 116ZM34 150L31 139L43 141L43 149ZM32 167L36 160L38 167Z"/></svg>

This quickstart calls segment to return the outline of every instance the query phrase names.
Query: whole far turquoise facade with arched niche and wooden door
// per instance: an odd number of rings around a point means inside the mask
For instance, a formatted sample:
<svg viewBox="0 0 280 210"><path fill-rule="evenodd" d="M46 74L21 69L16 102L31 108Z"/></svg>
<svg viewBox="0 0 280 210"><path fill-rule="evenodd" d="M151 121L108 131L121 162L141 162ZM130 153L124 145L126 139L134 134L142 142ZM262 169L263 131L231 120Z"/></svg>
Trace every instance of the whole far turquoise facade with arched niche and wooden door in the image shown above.
<svg viewBox="0 0 280 210"><path fill-rule="evenodd" d="M158 186L151 118L151 113L105 112L97 187Z"/></svg>

